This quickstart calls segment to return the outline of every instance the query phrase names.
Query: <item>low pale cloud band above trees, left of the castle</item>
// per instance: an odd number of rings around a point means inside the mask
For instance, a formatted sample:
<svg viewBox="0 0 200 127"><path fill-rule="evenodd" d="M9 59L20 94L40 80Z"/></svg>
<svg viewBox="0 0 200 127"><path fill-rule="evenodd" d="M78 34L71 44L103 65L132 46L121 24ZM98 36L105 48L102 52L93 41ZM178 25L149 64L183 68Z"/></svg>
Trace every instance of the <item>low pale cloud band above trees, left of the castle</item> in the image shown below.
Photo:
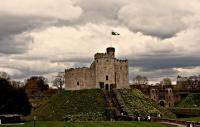
<svg viewBox="0 0 200 127"><path fill-rule="evenodd" d="M45 75L64 71L74 63L52 63L47 60L20 60L13 58L0 58L0 71L7 72L14 78L26 78L31 75Z"/></svg>

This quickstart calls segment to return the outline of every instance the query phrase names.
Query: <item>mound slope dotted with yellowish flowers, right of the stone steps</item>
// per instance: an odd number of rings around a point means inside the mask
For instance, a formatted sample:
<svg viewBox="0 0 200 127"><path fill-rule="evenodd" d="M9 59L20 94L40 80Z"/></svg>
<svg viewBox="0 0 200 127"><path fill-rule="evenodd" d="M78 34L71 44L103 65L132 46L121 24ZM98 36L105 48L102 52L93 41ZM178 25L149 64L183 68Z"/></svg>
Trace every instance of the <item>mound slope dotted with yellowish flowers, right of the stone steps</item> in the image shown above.
<svg viewBox="0 0 200 127"><path fill-rule="evenodd" d="M175 115L159 106L155 101L146 97L137 89L122 89L121 96L124 99L125 105L133 114L157 116L161 114L164 117L175 118Z"/></svg>

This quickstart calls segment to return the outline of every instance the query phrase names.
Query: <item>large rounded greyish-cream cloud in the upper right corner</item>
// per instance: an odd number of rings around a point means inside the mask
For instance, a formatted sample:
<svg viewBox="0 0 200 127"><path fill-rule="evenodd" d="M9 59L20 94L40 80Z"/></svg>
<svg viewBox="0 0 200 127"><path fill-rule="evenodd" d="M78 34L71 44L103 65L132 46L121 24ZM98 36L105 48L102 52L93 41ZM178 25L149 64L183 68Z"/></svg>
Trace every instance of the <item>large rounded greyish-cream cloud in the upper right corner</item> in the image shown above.
<svg viewBox="0 0 200 127"><path fill-rule="evenodd" d="M135 31L171 37L186 29L191 22L199 21L200 3L190 1L142 0L129 1L119 10L119 20Z"/></svg>

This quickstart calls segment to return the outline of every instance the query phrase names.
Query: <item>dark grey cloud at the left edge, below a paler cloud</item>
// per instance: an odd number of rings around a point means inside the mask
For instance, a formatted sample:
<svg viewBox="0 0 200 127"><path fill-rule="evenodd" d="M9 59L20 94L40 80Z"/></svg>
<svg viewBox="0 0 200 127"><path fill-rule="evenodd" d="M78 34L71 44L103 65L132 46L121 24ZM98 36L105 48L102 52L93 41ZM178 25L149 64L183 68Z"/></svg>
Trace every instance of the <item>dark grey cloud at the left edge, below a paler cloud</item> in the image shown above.
<svg viewBox="0 0 200 127"><path fill-rule="evenodd" d="M0 53L19 54L28 50L31 37L20 37L23 32L48 24L47 18L0 15Z"/></svg>

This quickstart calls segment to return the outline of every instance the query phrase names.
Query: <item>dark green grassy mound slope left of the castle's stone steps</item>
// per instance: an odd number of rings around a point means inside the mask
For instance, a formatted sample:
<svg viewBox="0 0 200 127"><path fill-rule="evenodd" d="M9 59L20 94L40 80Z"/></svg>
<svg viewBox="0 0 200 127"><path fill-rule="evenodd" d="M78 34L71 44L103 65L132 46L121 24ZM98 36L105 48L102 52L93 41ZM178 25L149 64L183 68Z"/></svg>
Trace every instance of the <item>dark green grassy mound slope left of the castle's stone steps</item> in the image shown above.
<svg viewBox="0 0 200 127"><path fill-rule="evenodd" d="M38 120L103 120L105 110L103 91L99 89L63 91L51 97L27 119L37 116Z"/></svg>

